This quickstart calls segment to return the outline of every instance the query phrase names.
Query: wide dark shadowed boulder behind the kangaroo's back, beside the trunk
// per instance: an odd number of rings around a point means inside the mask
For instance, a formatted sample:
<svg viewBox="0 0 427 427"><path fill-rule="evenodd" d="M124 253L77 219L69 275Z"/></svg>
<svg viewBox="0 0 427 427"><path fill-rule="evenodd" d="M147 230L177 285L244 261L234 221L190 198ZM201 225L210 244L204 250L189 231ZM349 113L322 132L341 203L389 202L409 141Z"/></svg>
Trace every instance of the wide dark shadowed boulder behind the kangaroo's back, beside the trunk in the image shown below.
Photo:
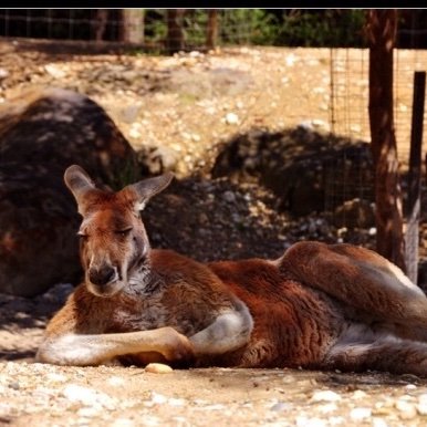
<svg viewBox="0 0 427 427"><path fill-rule="evenodd" d="M220 150L212 176L259 183L277 195L278 209L295 217L373 201L369 144L303 126L237 136Z"/></svg>

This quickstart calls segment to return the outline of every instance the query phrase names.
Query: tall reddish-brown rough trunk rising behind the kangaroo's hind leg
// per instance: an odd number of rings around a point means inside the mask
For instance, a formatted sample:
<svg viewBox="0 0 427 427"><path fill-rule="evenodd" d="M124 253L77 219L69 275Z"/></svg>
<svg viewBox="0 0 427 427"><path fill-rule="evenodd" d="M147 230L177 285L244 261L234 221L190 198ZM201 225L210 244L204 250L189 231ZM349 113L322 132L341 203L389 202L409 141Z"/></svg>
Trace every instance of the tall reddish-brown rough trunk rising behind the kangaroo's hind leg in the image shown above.
<svg viewBox="0 0 427 427"><path fill-rule="evenodd" d="M377 251L406 271L402 190L393 114L393 49L397 11L367 12L369 124L375 167Z"/></svg>

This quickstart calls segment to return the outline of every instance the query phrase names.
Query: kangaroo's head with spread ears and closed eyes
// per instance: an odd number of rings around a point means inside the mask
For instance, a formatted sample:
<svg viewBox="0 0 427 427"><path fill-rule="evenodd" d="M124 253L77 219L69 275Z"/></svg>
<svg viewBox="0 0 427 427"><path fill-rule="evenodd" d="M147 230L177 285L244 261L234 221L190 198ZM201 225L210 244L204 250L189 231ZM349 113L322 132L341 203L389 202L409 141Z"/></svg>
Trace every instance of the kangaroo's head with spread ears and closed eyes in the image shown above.
<svg viewBox="0 0 427 427"><path fill-rule="evenodd" d="M171 178L168 173L114 192L96 188L80 166L65 170L65 184L83 217L80 254L92 293L111 296L124 287L143 285L149 268L149 241L139 211Z"/></svg>

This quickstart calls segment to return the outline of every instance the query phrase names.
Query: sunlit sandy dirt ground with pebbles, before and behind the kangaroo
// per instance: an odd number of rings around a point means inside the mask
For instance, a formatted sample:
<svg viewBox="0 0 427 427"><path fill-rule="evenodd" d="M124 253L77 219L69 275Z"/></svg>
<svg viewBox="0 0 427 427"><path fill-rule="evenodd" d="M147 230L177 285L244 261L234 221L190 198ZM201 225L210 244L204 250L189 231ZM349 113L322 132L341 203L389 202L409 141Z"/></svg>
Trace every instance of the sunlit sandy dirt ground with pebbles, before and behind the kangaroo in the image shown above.
<svg viewBox="0 0 427 427"><path fill-rule="evenodd" d="M329 51L236 48L167 58L48 48L0 43L0 100L48 85L85 93L135 149L152 153L154 173L162 156L178 177L208 176L221 145L251 128L331 126ZM353 90L365 96L355 79ZM366 123L352 117L345 126L364 137ZM33 300L0 295L1 425L426 425L427 382L414 376L35 364L43 327L71 290L59 284Z"/></svg>

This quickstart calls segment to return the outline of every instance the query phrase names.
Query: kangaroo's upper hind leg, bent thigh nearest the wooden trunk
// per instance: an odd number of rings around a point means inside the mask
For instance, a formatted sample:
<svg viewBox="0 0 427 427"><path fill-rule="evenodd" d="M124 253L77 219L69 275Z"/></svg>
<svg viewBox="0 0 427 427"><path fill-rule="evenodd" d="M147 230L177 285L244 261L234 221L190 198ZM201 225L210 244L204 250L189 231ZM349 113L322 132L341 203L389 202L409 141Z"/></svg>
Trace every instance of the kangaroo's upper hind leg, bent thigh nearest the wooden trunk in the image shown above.
<svg viewBox="0 0 427 427"><path fill-rule="evenodd" d="M378 253L352 244L306 241L293 244L275 262L283 274L327 293L356 315L393 323L403 336L427 341L426 295Z"/></svg>

